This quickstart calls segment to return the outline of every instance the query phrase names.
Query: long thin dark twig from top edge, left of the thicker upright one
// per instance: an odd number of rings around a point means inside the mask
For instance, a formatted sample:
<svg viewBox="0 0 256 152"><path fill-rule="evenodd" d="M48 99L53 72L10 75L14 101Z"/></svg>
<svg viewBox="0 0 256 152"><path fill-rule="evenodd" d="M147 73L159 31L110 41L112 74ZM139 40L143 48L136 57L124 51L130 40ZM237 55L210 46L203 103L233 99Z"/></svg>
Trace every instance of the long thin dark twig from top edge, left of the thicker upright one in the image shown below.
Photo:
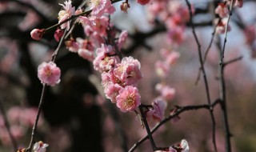
<svg viewBox="0 0 256 152"><path fill-rule="evenodd" d="M188 6L189 11L190 11L190 25L192 27L192 32L194 34L194 39L195 39L195 41L196 41L196 43L198 45L198 56L199 56L200 66L201 66L201 69L202 69L202 75L203 75L205 87L206 87L206 97L207 97L207 102L210 105L211 104L211 102L210 102L210 91L209 91L208 81L207 81L207 78L206 78L206 71L205 71L205 68L204 68L204 62L202 60L201 45L200 45L200 42L198 40L198 36L197 36L197 34L195 33L195 30L194 30L194 23L193 23L193 19L192 19L193 18L193 14L192 14L191 5L190 5L189 0L186 0L186 5ZM212 120L212 130L213 130L212 136L213 136L214 151L217 152L218 150L217 150L216 139L215 139L214 110L212 108L210 108L209 112L210 112L210 118Z"/></svg>

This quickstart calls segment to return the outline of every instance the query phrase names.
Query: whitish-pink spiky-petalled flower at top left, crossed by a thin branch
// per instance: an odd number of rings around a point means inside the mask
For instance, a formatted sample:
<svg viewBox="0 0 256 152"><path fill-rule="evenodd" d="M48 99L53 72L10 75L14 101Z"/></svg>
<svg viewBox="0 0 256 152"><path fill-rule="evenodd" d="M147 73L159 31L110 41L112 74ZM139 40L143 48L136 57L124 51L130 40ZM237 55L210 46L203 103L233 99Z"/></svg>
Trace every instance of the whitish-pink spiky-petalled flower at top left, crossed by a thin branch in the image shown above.
<svg viewBox="0 0 256 152"><path fill-rule="evenodd" d="M72 7L71 1L68 0L64 4L59 4L64 10L58 12L58 23L65 21L75 14L75 8ZM70 29L70 22L65 22L61 25L62 29Z"/></svg>

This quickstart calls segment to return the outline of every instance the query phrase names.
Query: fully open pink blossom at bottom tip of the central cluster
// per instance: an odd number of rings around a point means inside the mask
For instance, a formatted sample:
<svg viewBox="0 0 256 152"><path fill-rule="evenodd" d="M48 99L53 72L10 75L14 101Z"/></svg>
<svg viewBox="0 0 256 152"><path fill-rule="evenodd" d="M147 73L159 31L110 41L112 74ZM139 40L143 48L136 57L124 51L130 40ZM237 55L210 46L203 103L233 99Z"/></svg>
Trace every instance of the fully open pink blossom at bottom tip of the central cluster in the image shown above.
<svg viewBox="0 0 256 152"><path fill-rule="evenodd" d="M141 96L134 86L126 86L119 90L116 100L117 106L122 112L135 110L141 104Z"/></svg>

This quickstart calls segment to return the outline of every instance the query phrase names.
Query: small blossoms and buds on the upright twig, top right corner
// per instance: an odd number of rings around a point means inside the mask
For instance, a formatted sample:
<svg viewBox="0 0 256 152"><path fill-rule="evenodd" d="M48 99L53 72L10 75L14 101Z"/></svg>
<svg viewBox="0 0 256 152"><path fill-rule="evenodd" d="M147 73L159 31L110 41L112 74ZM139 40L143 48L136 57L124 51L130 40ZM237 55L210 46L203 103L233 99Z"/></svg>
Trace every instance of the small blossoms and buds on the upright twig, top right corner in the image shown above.
<svg viewBox="0 0 256 152"><path fill-rule="evenodd" d="M215 14L218 14L219 18L218 21L216 22L217 27L216 31L218 34L224 34L225 33L225 27L227 23L227 17L230 14L229 6L231 0L225 0L224 2L220 2L218 6L215 9ZM243 5L243 0L234 0L234 7L239 7L241 8ZM230 25L227 26L227 31L230 31Z"/></svg>

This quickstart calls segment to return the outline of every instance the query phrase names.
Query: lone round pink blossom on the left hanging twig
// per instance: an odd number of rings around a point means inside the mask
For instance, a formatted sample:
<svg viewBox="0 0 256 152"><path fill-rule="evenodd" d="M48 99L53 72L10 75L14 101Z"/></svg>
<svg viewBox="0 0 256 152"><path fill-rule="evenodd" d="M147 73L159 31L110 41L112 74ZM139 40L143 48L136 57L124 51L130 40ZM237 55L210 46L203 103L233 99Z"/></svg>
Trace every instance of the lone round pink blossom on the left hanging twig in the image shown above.
<svg viewBox="0 0 256 152"><path fill-rule="evenodd" d="M46 85L54 86L60 82L61 70L54 62L42 62L38 66L38 78Z"/></svg>

